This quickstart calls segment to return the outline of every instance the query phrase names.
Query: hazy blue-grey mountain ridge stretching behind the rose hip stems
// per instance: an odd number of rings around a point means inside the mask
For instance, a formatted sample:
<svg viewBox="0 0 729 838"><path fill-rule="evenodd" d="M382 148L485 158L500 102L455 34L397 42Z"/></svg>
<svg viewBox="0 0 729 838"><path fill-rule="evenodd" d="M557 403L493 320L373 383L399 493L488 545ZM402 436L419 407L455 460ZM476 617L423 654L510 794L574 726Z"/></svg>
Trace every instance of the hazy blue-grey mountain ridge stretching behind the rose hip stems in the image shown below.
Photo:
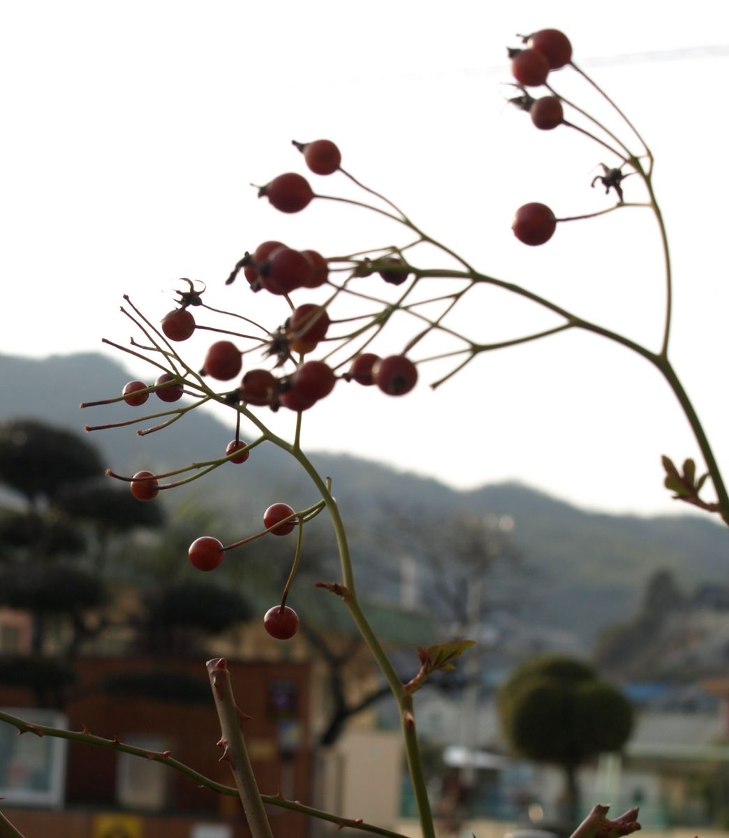
<svg viewBox="0 0 729 838"><path fill-rule="evenodd" d="M132 377L101 354L54 355L44 360L0 355L4 396L0 421L28 416L77 432L84 424L124 422L133 414L123 403L84 411L78 406L80 401L120 393ZM166 407L154 397L148 406L153 411ZM232 438L232 422L224 423L224 418L225 409L220 418L196 410L147 437L138 437L137 426L132 426L93 432L90 438L108 466L119 473L128 475L141 468L160 472L219 456ZM422 528L437 525L448 515L494 516L508 530L529 569L522 575L520 597L528 603L528 613L516 615L522 628L566 630L584 649L602 627L635 611L646 580L656 570L666 568L679 582L692 585L723 582L729 575L729 537L708 517L603 515L579 510L522 484L457 491L435 479L355 457L313 453L311 458L334 478L344 519L351 522L360 586L364 581L372 592L391 600L400 595L399 562L407 545L401 544L395 554L384 546L402 541L397 521L403 516L420 521ZM316 500L298 463L272 446L251 452L245 465L226 465L160 498L168 504L192 498L224 510L241 534L251 522L260 523L262 510L274 500L300 505ZM323 516L319 521L322 543L331 545ZM545 644L549 645L546 640Z"/></svg>

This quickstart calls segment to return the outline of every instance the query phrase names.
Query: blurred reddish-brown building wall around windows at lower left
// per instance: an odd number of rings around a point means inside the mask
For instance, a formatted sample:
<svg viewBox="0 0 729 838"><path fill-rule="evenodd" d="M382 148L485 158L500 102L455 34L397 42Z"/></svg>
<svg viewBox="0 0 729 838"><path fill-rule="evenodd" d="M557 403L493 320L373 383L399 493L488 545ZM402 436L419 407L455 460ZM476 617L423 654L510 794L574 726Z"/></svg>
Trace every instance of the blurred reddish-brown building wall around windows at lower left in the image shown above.
<svg viewBox="0 0 729 838"><path fill-rule="evenodd" d="M226 763L220 763L221 751L215 743L220 738L220 726L215 714L215 706L210 696L209 705L183 705L166 701L153 701L142 698L123 698L112 696L99 691L96 685L106 675L123 671L154 670L159 662L156 660L127 660L127 659L80 659L76 662L80 675L80 684L76 689L76 697L68 701L64 710L69 717L69 727L80 730L86 727L89 732L97 736L118 737L121 742L125 738L135 735L155 735L169 742L172 756L206 777L232 785L230 768ZM184 671L194 675L206 677L204 663L190 660L166 660L165 669ZM236 701L240 710L251 716L246 722L244 733L251 749L251 761L259 788L264 794L277 794L282 788L282 777L291 778L291 788L287 796L306 802L311 799L311 766L313 764L309 730L309 674L308 664L295 662L246 662L235 663L229 661L230 673L233 681ZM290 768L282 768L277 747L277 721L271 716L268 706L269 685L271 680L287 680L297 686L296 718L302 724L302 746L289 763ZM0 705L29 706L32 697L23 691L3 691L0 686ZM77 807L99 807L113 809L116 805L116 768L118 754L101 747L90 747L79 742L69 742L67 773L66 773L66 803L70 809ZM168 777L168 811L176 815L195 813L197 816L217 815L221 811L237 813L236 799L226 798L224 795L201 789L193 780L183 774L169 769ZM284 772L282 774L282 771ZM31 813L25 810L7 810L8 817L13 820L31 818ZM296 836L306 835L306 820L285 810L272 810L277 823L277 832ZM33 818L44 819L47 816L56 818L49 813L33 813ZM66 813L63 819L54 821L52 830L31 828L28 835L54 835L65 838L84 838L87 834L86 826L69 825L71 830L65 833L65 825L75 823L72 812ZM148 819L149 820L149 819ZM150 820L151 822L151 820ZM182 821L181 821L182 823ZM173 826L172 820L164 820L162 832L151 829L149 835L165 835L165 838L175 838L176 835L189 835L191 821L185 819L184 826ZM21 824L18 820L18 827ZM241 827L242 828L242 827ZM90 827L89 827L90 829ZM75 831L74 831L75 830ZM21 831L23 831L21 827ZM88 832L90 835L91 833ZM245 831L240 833L246 834ZM237 833L236 833L237 835Z"/></svg>

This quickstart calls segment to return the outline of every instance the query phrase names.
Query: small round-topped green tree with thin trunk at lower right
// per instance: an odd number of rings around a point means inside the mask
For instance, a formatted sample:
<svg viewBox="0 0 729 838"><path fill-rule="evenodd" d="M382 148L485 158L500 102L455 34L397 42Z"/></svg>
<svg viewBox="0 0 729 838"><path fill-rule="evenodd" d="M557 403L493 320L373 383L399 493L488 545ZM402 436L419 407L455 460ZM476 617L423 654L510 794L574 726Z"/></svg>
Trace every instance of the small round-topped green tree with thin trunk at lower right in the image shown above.
<svg viewBox="0 0 729 838"><path fill-rule="evenodd" d="M599 753L619 751L633 729L633 707L591 666L561 655L518 666L499 689L504 736L521 757L553 763L565 775L565 818L579 810L576 771Z"/></svg>

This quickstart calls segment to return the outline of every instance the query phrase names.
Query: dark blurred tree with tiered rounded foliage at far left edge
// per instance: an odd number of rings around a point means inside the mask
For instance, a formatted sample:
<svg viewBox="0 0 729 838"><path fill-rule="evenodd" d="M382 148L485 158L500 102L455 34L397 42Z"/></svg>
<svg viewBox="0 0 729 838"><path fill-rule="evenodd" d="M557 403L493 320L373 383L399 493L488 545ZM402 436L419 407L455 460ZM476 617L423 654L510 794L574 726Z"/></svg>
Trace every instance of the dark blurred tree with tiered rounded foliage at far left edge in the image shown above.
<svg viewBox="0 0 729 838"><path fill-rule="evenodd" d="M162 523L158 504L149 510L124 489L100 486L102 473L96 448L76 434L34 419L0 425L0 483L23 499L0 514L0 604L32 614L35 655L43 653L49 618L70 626L68 659L106 628L89 613L106 603L100 572L110 535Z"/></svg>

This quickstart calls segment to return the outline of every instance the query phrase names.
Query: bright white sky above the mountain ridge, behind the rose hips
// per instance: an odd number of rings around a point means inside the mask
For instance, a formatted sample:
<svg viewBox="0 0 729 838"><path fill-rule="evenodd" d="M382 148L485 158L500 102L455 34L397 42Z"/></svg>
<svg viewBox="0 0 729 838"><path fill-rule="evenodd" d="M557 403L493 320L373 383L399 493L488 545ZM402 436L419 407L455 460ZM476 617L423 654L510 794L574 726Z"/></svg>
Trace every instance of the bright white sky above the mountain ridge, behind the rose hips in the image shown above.
<svg viewBox="0 0 729 838"><path fill-rule="evenodd" d="M557 27L654 150L675 260L671 355L729 468L727 23L722 0L6 3L0 349L42 357L102 349L101 336L125 343L121 295L158 319L181 276L208 282L209 303L271 325L280 301L253 297L242 279L222 285L260 241L325 255L409 241L357 209L314 202L284 216L256 199L251 181L305 172L291 139L318 137L483 272L657 348L664 286L647 210L561 225L541 248L509 230L526 201L558 216L612 201L589 188L606 152L563 128L537 132L504 106L505 45ZM602 113L568 71L555 85ZM346 189L336 176L312 179L324 193ZM644 199L637 178L626 198ZM450 266L428 253L421 263ZM459 323L484 342L554 323L500 293L469 299ZM405 341L394 329L378 348ZM184 345L193 365L208 343ZM305 444L458 487L518 478L588 508L676 509L659 455L697 448L639 357L570 333L484 354L433 393L427 381L443 371L423 365L402 399L339 385L305 414ZM292 415L277 427L289 432Z"/></svg>

